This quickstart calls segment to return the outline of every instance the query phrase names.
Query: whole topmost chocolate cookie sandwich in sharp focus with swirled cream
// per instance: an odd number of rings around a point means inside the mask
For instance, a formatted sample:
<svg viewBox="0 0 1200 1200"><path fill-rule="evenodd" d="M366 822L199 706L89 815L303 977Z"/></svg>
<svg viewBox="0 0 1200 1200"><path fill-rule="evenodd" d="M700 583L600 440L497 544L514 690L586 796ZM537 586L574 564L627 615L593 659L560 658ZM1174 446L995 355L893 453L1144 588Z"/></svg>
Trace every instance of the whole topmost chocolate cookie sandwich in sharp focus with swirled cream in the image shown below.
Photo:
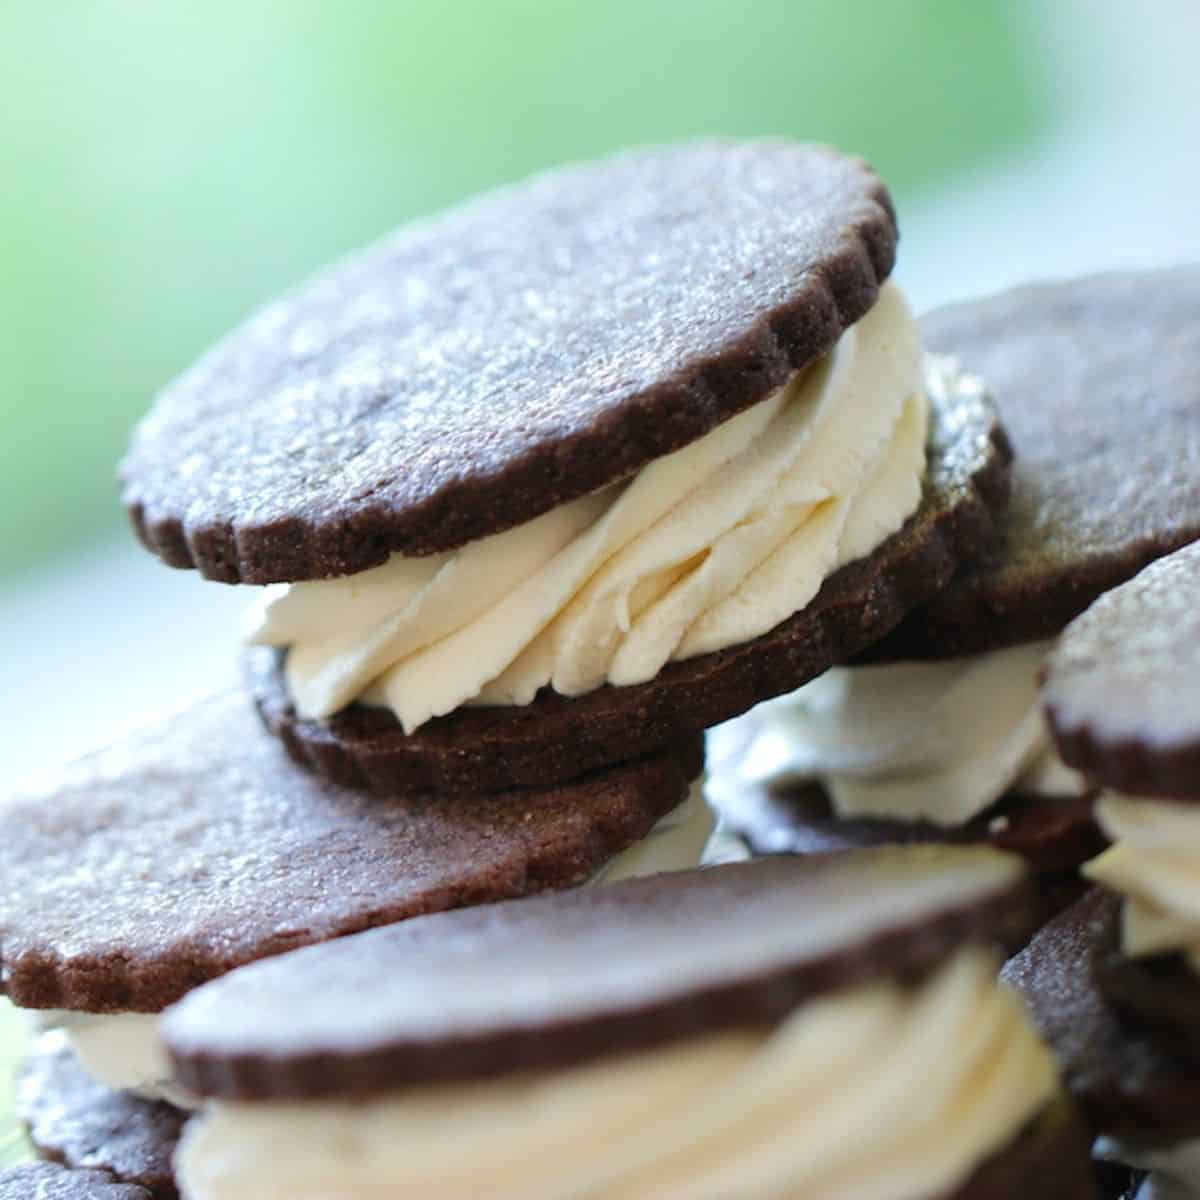
<svg viewBox="0 0 1200 1200"><path fill-rule="evenodd" d="M382 794L548 786L887 632L986 545L1007 444L923 359L860 161L708 142L401 229L234 332L122 468L145 545L271 584L247 672Z"/></svg>

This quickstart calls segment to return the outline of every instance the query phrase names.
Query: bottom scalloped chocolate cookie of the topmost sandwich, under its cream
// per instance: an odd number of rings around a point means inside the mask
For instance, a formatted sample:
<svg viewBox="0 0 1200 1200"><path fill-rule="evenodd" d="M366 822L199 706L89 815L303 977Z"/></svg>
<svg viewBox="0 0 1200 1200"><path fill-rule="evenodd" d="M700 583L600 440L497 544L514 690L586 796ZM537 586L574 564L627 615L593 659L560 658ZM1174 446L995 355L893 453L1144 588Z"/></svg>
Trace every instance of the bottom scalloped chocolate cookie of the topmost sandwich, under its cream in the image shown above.
<svg viewBox="0 0 1200 1200"><path fill-rule="evenodd" d="M571 779L728 720L883 636L989 544L1008 463L986 398L964 389L936 401L924 497L899 533L775 629L667 664L649 683L570 698L547 689L523 708L462 708L408 736L390 712L364 706L325 721L298 718L271 649L248 654L251 689L296 762L350 787L490 791Z"/></svg>

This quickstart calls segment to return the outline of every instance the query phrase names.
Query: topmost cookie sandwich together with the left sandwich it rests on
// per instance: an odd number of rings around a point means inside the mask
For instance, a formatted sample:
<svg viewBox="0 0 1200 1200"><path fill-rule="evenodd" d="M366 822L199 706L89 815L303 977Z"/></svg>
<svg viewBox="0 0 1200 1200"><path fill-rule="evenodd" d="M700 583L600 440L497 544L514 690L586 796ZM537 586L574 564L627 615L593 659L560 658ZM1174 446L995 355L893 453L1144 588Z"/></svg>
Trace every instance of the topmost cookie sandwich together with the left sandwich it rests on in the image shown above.
<svg viewBox="0 0 1200 1200"><path fill-rule="evenodd" d="M704 859L703 731L888 634L1007 498L895 244L833 150L634 152L402 229L167 389L125 498L260 589L251 696L0 808L44 1154L174 1195L203 1090L160 1014L253 960Z"/></svg>

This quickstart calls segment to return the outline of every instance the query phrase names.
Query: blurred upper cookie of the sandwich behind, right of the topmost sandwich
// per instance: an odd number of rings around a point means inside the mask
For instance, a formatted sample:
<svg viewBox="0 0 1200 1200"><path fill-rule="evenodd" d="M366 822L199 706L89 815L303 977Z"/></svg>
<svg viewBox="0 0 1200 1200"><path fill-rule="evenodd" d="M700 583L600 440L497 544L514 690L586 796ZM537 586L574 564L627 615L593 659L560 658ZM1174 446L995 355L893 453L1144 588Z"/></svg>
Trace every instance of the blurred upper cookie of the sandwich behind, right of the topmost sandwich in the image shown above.
<svg viewBox="0 0 1200 1200"><path fill-rule="evenodd" d="M1200 266L1020 288L922 323L986 380L1016 450L1004 541L871 658L938 659L1056 635L1200 538Z"/></svg>

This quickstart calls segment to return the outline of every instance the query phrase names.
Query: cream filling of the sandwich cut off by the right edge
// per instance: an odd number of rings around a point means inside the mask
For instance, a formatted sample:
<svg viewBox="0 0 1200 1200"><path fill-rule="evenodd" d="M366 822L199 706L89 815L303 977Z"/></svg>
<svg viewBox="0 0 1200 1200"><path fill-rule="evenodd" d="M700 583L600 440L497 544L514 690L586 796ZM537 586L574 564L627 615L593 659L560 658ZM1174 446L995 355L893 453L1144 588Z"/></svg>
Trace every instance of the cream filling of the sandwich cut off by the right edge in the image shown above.
<svg viewBox="0 0 1200 1200"><path fill-rule="evenodd" d="M1106 793L1096 816L1112 846L1084 874L1124 896L1123 952L1180 952L1200 971L1200 805Z"/></svg>

